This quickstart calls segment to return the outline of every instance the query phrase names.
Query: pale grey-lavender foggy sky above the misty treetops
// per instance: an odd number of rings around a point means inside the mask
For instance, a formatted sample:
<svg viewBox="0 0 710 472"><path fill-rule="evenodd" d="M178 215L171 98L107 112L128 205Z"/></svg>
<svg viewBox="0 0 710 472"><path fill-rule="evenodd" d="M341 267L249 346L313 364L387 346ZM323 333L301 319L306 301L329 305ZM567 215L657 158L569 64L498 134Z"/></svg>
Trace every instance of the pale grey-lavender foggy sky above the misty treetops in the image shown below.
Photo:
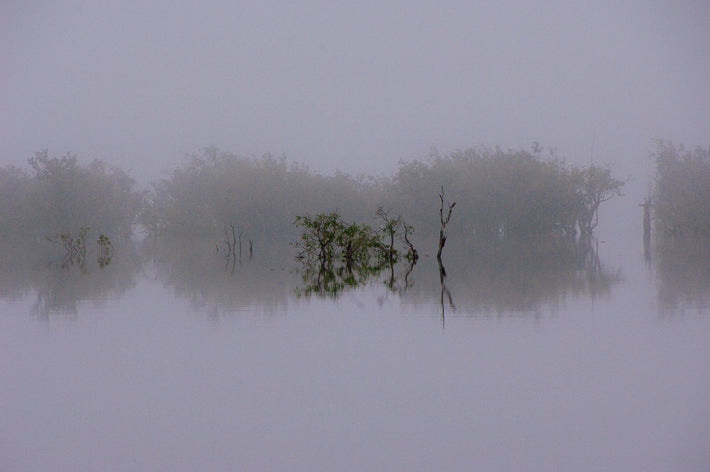
<svg viewBox="0 0 710 472"><path fill-rule="evenodd" d="M646 179L654 139L710 144L706 0L2 0L0 38L2 165L141 180L215 145L390 174L539 141Z"/></svg>

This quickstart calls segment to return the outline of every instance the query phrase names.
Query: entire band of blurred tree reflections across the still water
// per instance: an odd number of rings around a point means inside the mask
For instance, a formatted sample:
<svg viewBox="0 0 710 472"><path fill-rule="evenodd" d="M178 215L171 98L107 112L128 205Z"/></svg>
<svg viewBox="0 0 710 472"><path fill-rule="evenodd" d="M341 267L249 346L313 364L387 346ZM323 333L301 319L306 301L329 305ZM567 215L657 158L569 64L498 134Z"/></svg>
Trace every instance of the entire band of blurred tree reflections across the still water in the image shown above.
<svg viewBox="0 0 710 472"><path fill-rule="evenodd" d="M141 283L160 283L203 312L285 312L298 297L335 298L358 287L381 287L405 305L438 306L472 314L537 313L578 297L610 294L623 280L621 268L602 262L596 242L569 240L452 241L446 268L426 254L416 264L401 260L374 268L323 271L294 260L286 241L253 242L243 257L225 257L214 240L171 239L142 245L116 244L108 266L95 255L84 266L67 265L61 247L47 241L0 240L0 299L30 298L31 311L77 313L82 301L122 296ZM93 253L92 253L93 254ZM608 255L606 255L608 256ZM710 242L666 241L650 267L664 312L710 307Z"/></svg>

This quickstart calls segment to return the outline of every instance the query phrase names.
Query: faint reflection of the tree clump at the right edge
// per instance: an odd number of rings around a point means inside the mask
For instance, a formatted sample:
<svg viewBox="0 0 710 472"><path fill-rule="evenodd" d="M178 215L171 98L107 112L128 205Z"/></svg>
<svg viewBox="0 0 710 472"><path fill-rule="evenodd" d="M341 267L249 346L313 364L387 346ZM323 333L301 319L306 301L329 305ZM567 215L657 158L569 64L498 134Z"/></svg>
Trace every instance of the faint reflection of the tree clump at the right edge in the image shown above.
<svg viewBox="0 0 710 472"><path fill-rule="evenodd" d="M710 307L710 239L667 239L655 251L658 302L664 313Z"/></svg>

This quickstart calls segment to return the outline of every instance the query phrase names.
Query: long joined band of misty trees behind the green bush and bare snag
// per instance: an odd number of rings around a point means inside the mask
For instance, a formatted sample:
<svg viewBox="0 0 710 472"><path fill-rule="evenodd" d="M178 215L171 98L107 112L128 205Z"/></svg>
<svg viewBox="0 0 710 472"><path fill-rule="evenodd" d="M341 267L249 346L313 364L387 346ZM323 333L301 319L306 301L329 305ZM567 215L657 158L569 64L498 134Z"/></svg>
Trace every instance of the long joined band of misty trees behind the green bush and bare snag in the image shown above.
<svg viewBox="0 0 710 472"><path fill-rule="evenodd" d="M240 158L211 148L153 185L142 215L152 234L214 233L233 224L254 237L294 237L296 216L338 210L376 223L378 208L401 215L420 234L436 234L437 195L459 202L467 236L590 235L599 206L621 194L606 166L567 165L533 150L468 149L401 162L391 178L321 176L266 155Z"/></svg>

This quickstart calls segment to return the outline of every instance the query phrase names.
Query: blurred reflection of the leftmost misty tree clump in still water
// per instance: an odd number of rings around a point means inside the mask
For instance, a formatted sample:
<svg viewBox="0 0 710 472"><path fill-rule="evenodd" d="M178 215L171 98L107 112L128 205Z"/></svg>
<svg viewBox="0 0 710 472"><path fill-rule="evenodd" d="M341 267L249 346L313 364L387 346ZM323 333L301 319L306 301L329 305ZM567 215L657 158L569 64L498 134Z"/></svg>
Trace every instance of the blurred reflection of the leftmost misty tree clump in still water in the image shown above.
<svg viewBox="0 0 710 472"><path fill-rule="evenodd" d="M110 265L98 257L68 260L62 248L45 240L3 239L0 298L34 296L31 312L76 314L82 301L102 303L120 297L136 284L141 259L132 243L116 245ZM89 254L95 256L95 254Z"/></svg>

